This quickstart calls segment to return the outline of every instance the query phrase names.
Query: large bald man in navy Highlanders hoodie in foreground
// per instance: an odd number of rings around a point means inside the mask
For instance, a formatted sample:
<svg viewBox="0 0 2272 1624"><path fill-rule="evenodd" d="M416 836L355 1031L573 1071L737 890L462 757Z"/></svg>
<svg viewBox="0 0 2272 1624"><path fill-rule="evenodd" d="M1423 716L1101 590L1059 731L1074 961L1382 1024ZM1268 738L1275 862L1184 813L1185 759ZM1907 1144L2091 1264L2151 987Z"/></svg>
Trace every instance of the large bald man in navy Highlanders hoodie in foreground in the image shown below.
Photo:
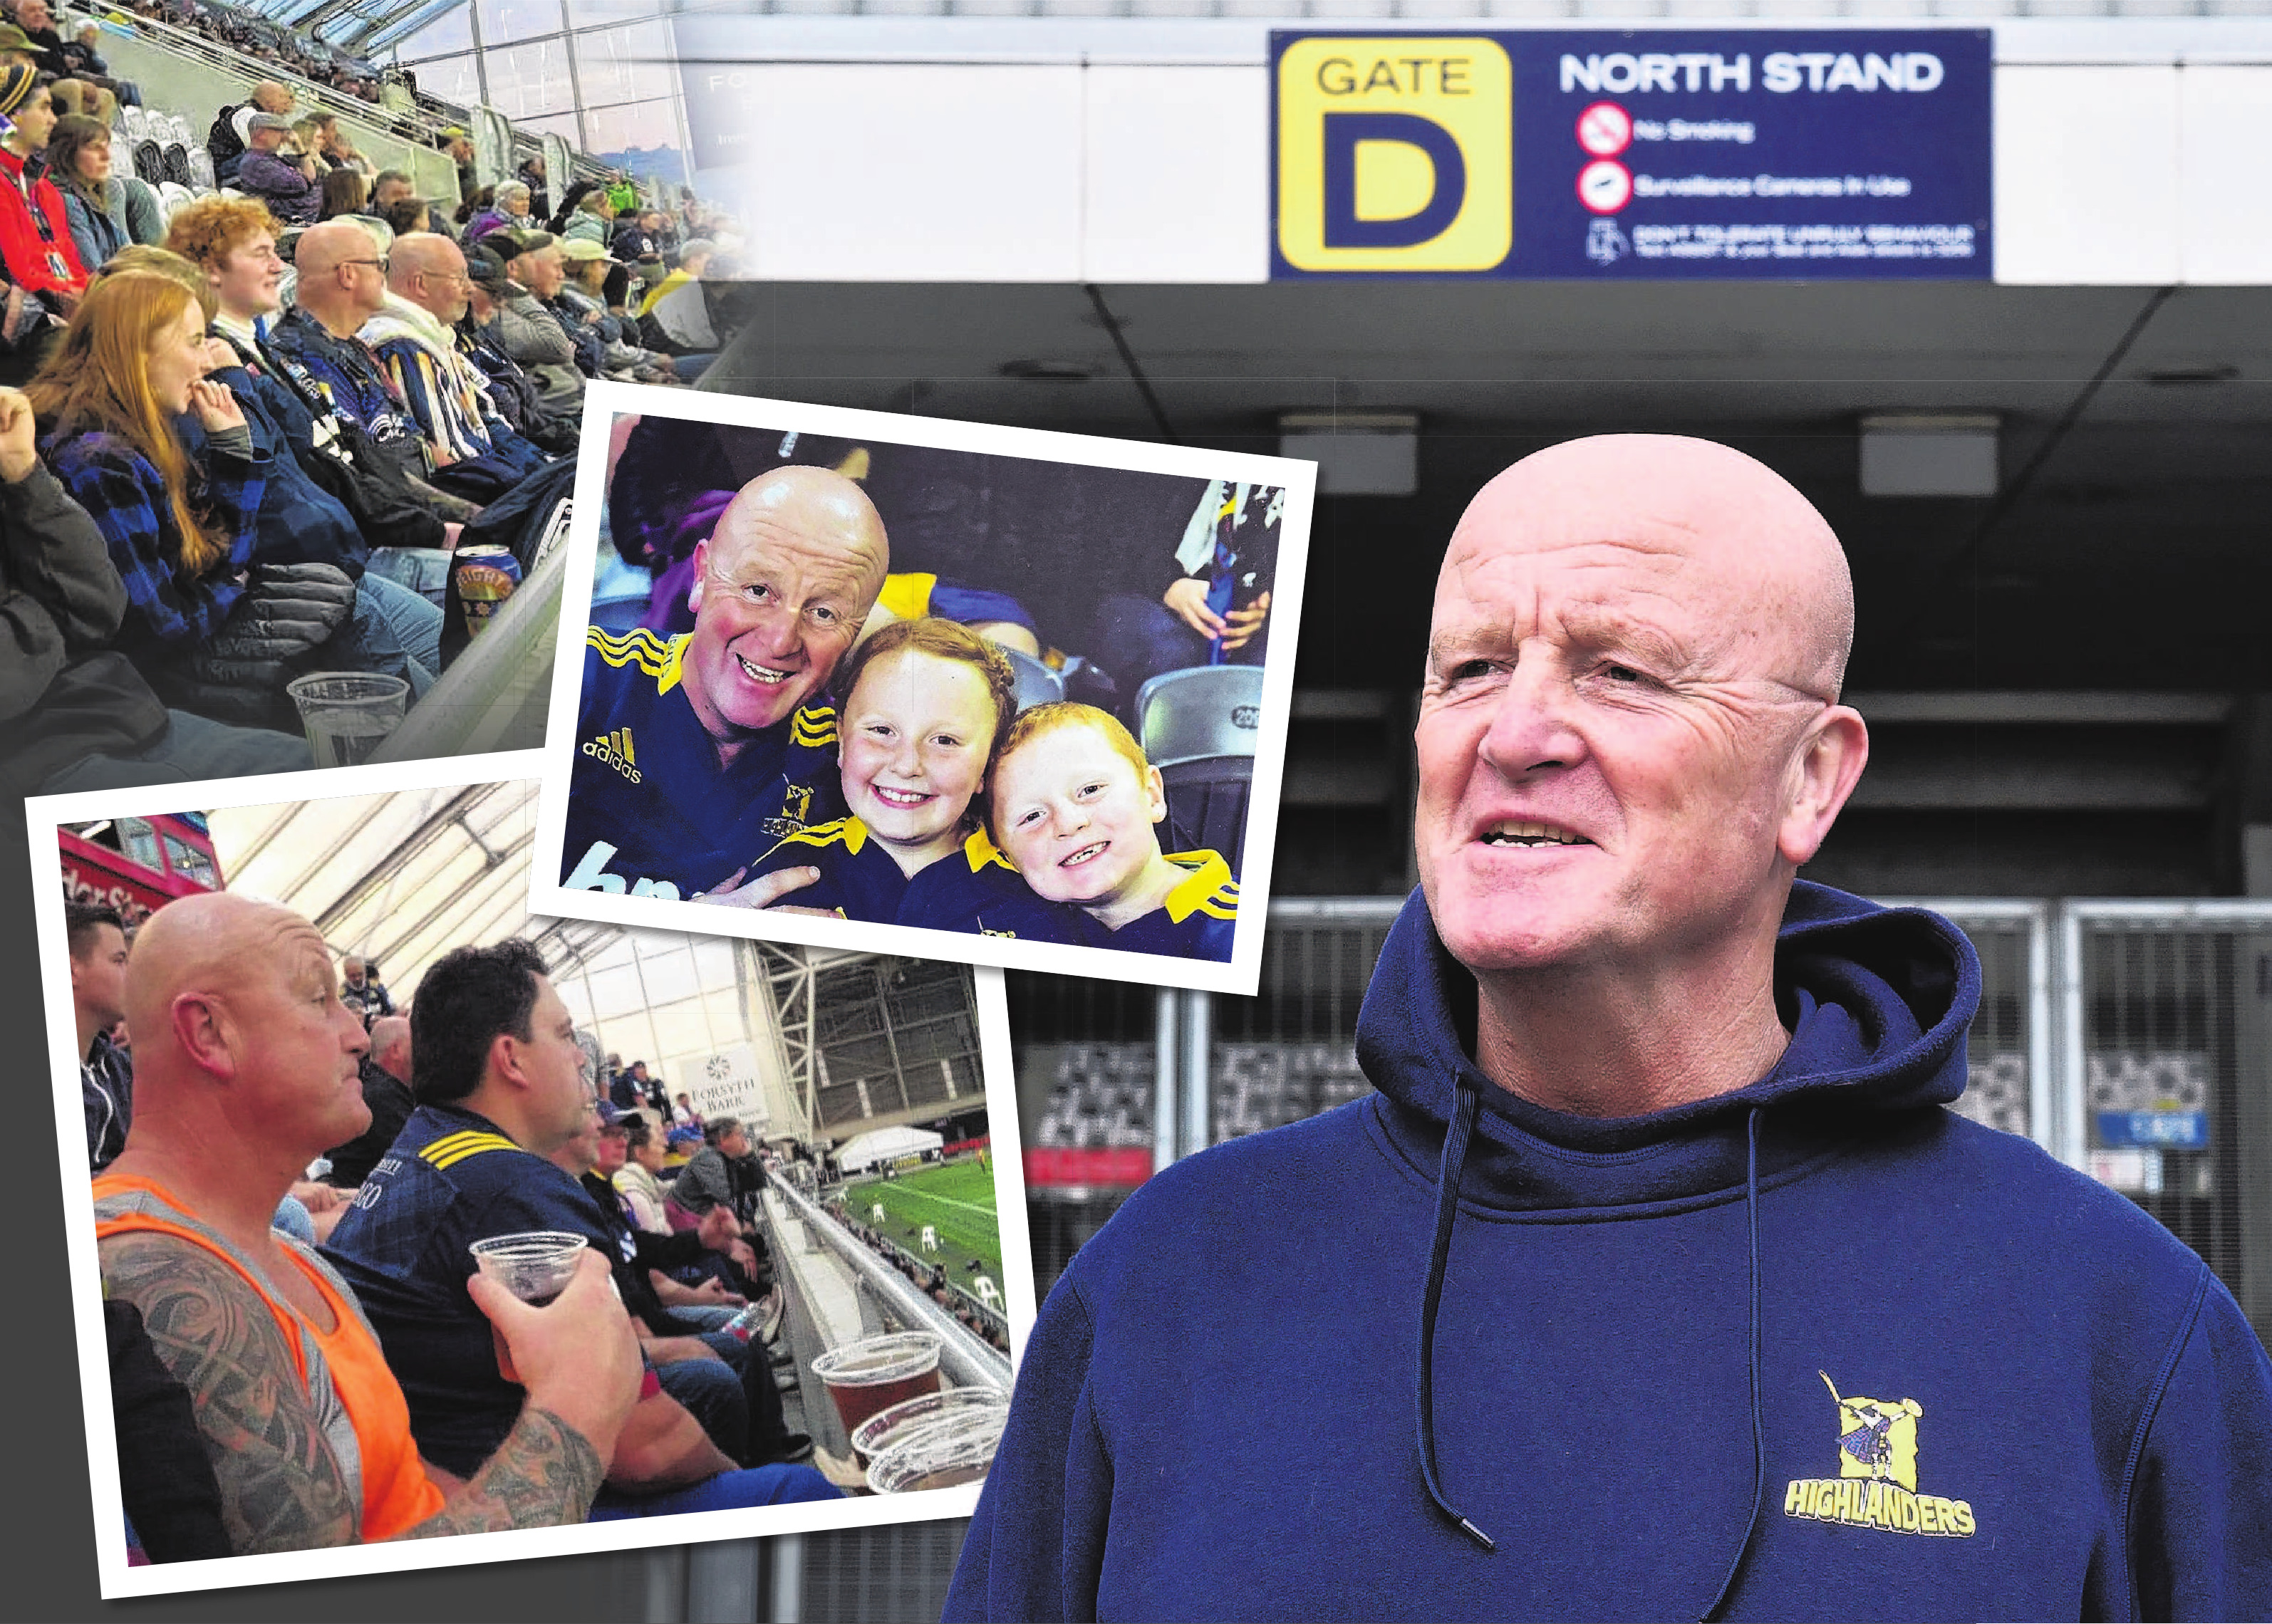
<svg viewBox="0 0 2272 1624"><path fill-rule="evenodd" d="M1475 497L1379 1093L1079 1252L947 1617L2272 1617L2240 1308L1945 1108L1963 934L1797 881L1868 761L1852 627L1727 447Z"/></svg>

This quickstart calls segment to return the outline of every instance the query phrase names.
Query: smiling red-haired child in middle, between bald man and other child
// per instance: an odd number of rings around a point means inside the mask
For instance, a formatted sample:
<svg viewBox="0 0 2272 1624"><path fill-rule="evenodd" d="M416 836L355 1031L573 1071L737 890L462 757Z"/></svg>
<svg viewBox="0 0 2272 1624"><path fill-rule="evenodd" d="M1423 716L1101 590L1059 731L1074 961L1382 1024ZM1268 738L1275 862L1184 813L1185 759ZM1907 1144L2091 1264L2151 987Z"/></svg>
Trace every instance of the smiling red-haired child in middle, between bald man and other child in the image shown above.
<svg viewBox="0 0 2272 1624"><path fill-rule="evenodd" d="M811 881L775 906L891 922L909 879L970 836L970 802L1018 706L1016 679L993 643L927 616L866 638L838 684L847 815L791 834L750 879L804 870Z"/></svg>

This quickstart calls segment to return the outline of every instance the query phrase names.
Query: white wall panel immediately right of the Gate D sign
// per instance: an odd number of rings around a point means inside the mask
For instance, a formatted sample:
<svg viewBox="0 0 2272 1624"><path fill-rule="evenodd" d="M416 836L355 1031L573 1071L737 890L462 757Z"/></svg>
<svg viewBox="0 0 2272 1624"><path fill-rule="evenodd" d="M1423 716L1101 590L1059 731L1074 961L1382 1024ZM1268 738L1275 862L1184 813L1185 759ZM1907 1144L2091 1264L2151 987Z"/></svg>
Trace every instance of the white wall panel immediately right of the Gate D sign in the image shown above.
<svg viewBox="0 0 2272 1624"><path fill-rule="evenodd" d="M1997 68L1995 279L2181 275L2174 66Z"/></svg>

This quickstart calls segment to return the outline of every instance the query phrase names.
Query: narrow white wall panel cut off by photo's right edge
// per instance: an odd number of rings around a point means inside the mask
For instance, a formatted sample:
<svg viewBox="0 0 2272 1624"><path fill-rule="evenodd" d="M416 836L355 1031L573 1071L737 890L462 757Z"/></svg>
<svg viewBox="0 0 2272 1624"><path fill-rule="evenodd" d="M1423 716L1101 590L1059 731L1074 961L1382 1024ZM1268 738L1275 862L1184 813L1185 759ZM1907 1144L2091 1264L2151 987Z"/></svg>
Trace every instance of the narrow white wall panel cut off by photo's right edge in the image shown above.
<svg viewBox="0 0 2272 1624"><path fill-rule="evenodd" d="M2272 282L2272 68L2183 68L2177 154L2186 282Z"/></svg>

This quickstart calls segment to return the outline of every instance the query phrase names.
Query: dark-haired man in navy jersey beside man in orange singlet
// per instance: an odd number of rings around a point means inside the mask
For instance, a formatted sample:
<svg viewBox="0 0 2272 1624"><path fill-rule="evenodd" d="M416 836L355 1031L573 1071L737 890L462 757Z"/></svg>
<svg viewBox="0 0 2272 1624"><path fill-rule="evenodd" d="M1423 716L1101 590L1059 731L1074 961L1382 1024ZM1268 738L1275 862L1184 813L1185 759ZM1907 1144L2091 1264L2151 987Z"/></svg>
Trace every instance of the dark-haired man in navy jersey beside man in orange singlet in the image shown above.
<svg viewBox="0 0 2272 1624"><path fill-rule="evenodd" d="M411 1093L418 1108L325 1254L386 1342L420 1451L457 1472L495 1447L523 1399L500 1370L488 1322L466 1301L479 1267L473 1247L552 1231L618 1256L591 1195L548 1161L584 1129L593 1079L568 1006L529 943L459 947L425 972L411 997ZM650 1383L616 1440L591 1515L834 1495L809 1467L738 1470L700 1420Z"/></svg>

